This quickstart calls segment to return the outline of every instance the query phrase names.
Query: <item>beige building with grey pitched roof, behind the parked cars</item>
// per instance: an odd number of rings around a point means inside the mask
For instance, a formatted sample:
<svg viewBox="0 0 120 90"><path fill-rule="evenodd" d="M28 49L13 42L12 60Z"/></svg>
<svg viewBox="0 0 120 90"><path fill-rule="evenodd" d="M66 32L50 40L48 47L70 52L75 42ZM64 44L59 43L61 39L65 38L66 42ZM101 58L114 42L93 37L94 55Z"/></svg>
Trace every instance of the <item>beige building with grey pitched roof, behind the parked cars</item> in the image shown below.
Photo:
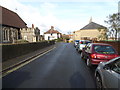
<svg viewBox="0 0 120 90"><path fill-rule="evenodd" d="M105 40L107 28L90 20L89 24L73 32L74 40Z"/></svg>

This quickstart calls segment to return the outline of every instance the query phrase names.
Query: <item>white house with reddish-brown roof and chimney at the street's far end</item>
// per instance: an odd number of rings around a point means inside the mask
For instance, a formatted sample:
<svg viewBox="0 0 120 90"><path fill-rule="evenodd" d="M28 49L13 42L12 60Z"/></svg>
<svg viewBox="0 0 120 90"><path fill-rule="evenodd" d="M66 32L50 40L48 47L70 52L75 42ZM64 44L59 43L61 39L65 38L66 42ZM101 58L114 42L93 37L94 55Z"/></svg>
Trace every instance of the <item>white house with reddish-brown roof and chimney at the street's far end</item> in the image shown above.
<svg viewBox="0 0 120 90"><path fill-rule="evenodd" d="M61 38L61 33L57 30L54 30L54 27L51 26L51 29L44 33L45 40L54 40Z"/></svg>

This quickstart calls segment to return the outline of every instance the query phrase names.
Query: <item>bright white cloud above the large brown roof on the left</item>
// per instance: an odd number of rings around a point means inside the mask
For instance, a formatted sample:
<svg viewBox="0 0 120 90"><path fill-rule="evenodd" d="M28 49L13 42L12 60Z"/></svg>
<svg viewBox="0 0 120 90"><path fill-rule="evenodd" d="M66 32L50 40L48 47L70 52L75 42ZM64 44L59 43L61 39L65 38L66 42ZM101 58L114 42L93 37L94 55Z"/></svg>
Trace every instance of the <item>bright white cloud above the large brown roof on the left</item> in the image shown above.
<svg viewBox="0 0 120 90"><path fill-rule="evenodd" d="M55 5L51 3L44 3L41 5L40 8L46 12L46 15L44 16L42 16L38 8L29 4L24 5L17 0L0 0L0 3L1 6L18 13L18 15L27 23L28 27L31 27L32 24L34 24L36 27L40 28L42 34L44 31L48 30L51 25L55 24L55 22L58 22L52 13L52 8L55 8Z"/></svg>

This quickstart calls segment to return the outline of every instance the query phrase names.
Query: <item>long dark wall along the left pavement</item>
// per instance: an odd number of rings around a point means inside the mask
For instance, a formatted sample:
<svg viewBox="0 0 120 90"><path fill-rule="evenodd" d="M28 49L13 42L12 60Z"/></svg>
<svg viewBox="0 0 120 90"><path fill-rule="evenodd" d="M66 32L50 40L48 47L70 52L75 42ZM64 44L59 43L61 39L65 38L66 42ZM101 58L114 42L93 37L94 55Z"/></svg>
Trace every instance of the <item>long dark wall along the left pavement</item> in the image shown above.
<svg viewBox="0 0 120 90"><path fill-rule="evenodd" d="M55 41L42 41L24 44L2 45L2 61L15 58L55 44Z"/></svg>

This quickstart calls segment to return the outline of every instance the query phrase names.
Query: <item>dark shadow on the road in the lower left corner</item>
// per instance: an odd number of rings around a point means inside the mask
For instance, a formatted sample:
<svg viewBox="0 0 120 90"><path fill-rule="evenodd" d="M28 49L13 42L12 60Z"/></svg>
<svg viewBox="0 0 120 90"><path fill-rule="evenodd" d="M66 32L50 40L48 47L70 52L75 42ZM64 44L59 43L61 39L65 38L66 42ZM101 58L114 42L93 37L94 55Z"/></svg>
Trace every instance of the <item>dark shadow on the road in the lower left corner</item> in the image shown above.
<svg viewBox="0 0 120 90"><path fill-rule="evenodd" d="M2 79L2 88L18 88L29 79L31 79L29 72L15 71Z"/></svg>

